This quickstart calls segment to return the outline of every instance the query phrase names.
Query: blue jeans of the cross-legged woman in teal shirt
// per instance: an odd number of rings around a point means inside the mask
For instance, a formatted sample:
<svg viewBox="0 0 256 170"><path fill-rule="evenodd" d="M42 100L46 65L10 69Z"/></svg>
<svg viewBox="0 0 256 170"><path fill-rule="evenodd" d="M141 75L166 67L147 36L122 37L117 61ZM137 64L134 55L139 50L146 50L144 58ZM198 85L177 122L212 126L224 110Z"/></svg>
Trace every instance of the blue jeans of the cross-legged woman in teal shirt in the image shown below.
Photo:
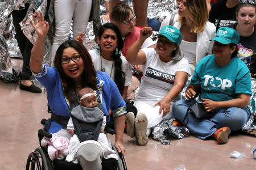
<svg viewBox="0 0 256 170"><path fill-rule="evenodd" d="M216 109L212 112L215 113L210 120L200 120L192 116L189 112L186 116L187 109L190 107L190 101L179 100L176 101L172 107L174 117L182 122L190 130L191 134L200 139L205 139L212 135L214 131L223 127L229 127L231 131L238 131L242 129L243 125L250 118L250 111L246 108L228 108L228 109ZM185 120L184 120L185 117ZM188 120L187 120L188 119ZM185 123L184 123L185 122Z"/></svg>

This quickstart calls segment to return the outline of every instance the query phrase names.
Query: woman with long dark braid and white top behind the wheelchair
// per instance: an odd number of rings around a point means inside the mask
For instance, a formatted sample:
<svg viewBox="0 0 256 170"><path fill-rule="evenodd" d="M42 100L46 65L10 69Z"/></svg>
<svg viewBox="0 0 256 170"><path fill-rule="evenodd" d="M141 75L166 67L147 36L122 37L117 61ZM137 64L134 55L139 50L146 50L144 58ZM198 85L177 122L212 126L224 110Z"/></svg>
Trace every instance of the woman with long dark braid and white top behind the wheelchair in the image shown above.
<svg viewBox="0 0 256 170"><path fill-rule="evenodd" d="M117 84L118 90L125 99L128 86L131 84L131 65L119 54L123 40L117 25L106 23L98 31L98 49L89 50L96 71L108 73Z"/></svg>

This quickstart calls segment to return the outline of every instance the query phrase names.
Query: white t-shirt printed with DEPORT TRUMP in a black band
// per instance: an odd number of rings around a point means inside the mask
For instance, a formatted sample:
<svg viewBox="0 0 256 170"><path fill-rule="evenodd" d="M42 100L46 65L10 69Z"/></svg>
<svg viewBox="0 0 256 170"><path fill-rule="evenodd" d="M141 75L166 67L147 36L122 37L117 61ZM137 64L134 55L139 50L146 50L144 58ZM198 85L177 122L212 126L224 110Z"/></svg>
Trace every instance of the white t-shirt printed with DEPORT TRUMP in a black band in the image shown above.
<svg viewBox="0 0 256 170"><path fill-rule="evenodd" d="M149 104L155 104L174 86L176 71L184 71L190 74L188 60L163 62L154 48L142 49L146 54L146 63L142 65L143 76L136 100L143 100ZM172 101L181 100L177 95Z"/></svg>

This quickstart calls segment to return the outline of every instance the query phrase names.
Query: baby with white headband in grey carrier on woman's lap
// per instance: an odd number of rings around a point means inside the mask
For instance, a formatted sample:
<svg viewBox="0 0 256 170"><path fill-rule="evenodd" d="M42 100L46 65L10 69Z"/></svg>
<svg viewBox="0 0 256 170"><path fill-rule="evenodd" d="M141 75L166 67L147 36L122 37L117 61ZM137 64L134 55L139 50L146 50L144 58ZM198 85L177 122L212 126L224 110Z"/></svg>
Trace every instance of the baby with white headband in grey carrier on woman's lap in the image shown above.
<svg viewBox="0 0 256 170"><path fill-rule="evenodd" d="M108 138L104 133L106 116L97 107L96 92L92 88L85 87L79 91L78 97L80 105L72 109L71 118L69 118L67 125L68 133L73 134L73 136L70 139L69 154L66 161L77 163L75 156L77 147L88 142L94 143L97 141L104 155L114 154L115 152L111 149ZM115 156L109 158L115 158Z"/></svg>

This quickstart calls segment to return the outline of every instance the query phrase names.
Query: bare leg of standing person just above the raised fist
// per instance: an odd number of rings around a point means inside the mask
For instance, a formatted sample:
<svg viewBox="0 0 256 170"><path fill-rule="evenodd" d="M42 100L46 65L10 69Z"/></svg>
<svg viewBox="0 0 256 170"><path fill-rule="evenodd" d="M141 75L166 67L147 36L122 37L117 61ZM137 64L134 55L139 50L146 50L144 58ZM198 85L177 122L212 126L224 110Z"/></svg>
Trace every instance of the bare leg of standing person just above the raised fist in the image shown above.
<svg viewBox="0 0 256 170"><path fill-rule="evenodd" d="M133 10L136 14L136 25L147 27L147 5L149 0L133 0Z"/></svg>

